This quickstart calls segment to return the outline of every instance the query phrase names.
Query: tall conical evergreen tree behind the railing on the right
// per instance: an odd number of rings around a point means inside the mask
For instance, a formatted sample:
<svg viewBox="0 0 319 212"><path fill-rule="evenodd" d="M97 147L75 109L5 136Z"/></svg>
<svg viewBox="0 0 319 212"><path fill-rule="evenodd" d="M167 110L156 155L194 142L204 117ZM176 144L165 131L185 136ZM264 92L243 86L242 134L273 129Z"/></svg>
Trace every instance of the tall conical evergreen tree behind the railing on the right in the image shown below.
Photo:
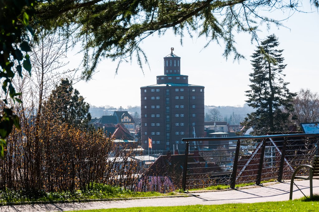
<svg viewBox="0 0 319 212"><path fill-rule="evenodd" d="M253 72L249 74L251 90L246 91L248 105L256 109L247 114L242 125L244 130L254 126L254 135L287 130L289 113L292 111L295 93L289 92L283 70L283 50L277 50L278 38L272 34L257 47L251 56ZM285 110L284 110L285 109Z"/></svg>

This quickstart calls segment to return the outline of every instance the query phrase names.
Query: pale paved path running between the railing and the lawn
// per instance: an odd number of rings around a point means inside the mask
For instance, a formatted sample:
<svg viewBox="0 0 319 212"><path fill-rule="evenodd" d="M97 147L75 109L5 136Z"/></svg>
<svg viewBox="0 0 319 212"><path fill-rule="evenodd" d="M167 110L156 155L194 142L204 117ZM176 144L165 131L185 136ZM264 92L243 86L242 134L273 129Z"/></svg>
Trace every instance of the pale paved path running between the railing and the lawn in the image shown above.
<svg viewBox="0 0 319 212"><path fill-rule="evenodd" d="M296 181L303 193L309 195L309 180ZM313 181L314 193L319 193L319 180ZM271 186L255 187L239 190L214 191L192 193L199 196L153 198L121 201L98 201L83 203L57 203L37 205L1 206L0 211L70 211L102 208L130 208L146 206L182 206L182 205L214 205L225 203L253 203L266 201L289 200L290 182L278 183ZM294 186L293 198L300 198L303 194Z"/></svg>

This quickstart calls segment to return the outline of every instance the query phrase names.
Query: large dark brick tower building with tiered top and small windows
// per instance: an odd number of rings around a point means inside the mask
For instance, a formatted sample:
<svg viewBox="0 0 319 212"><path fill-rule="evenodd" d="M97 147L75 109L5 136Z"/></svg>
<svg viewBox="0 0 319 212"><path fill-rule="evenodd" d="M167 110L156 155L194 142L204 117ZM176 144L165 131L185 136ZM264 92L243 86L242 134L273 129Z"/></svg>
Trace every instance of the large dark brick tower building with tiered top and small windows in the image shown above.
<svg viewBox="0 0 319 212"><path fill-rule="evenodd" d="M144 149L152 138L153 150L173 150L178 145L184 151L182 138L204 136L204 86L188 84L188 76L181 74L181 57L171 50L164 57L164 75L157 76L155 85L141 87Z"/></svg>

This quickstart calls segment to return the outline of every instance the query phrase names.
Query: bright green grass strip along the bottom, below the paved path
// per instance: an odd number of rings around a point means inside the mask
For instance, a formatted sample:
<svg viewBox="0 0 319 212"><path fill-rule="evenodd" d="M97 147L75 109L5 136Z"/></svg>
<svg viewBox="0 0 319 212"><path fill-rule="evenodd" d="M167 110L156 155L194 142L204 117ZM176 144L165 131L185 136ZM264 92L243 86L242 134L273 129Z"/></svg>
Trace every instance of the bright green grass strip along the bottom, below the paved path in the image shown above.
<svg viewBox="0 0 319 212"><path fill-rule="evenodd" d="M159 200L160 201L160 200ZM174 207L139 207L139 208L112 208L98 210L77 210L72 212L187 212L187 211L263 211L263 212L292 212L292 211L319 211L319 201L281 201L245 204L224 205L192 205Z"/></svg>

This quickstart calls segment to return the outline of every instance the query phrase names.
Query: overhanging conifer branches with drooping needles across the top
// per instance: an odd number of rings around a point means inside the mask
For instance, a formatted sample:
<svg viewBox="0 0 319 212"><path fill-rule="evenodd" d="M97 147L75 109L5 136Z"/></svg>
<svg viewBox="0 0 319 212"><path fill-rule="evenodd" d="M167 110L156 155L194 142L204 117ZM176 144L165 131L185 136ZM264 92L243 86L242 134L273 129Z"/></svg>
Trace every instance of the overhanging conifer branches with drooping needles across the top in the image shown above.
<svg viewBox="0 0 319 212"><path fill-rule="evenodd" d="M316 7L317 0L312 0ZM258 27L264 22L281 25L280 21L263 16L262 11L297 8L291 2L255 0L53 0L38 5L36 14L42 26L59 28L67 38L81 38L85 71L90 79L101 58L132 59L147 62L139 47L150 35L163 35L171 28L182 39L185 34L225 44L224 56L243 58L235 46L235 35L248 32L257 38ZM271 14L270 12L268 14ZM91 57L92 56L92 57ZM117 71L117 70L116 70Z"/></svg>

